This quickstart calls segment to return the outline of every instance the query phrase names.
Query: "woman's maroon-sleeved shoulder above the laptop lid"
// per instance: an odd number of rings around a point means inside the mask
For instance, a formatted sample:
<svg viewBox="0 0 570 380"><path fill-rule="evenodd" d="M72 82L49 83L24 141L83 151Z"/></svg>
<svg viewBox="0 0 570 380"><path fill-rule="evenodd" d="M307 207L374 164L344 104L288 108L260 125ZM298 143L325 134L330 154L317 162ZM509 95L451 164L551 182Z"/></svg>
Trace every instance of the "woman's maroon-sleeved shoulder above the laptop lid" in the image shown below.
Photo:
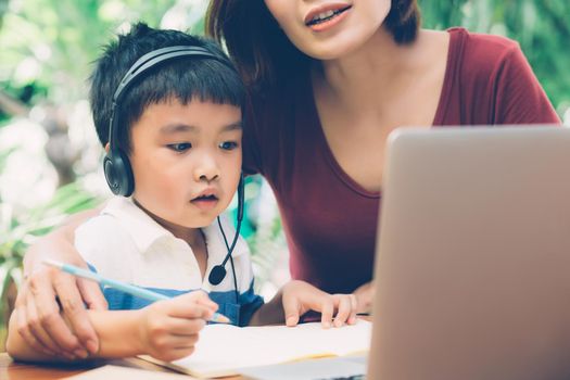
<svg viewBox="0 0 570 380"><path fill-rule="evenodd" d="M558 123L517 41L465 28L448 33L446 94L452 105L442 124Z"/></svg>

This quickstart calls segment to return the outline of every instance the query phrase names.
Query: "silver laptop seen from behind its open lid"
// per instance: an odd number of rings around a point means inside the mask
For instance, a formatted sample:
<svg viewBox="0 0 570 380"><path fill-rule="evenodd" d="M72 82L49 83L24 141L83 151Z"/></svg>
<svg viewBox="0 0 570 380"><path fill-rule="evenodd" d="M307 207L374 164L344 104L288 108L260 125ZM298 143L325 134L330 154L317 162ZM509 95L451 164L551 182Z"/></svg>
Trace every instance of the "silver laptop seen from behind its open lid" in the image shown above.
<svg viewBox="0 0 570 380"><path fill-rule="evenodd" d="M378 233L367 363L252 379L570 378L570 129L395 130Z"/></svg>

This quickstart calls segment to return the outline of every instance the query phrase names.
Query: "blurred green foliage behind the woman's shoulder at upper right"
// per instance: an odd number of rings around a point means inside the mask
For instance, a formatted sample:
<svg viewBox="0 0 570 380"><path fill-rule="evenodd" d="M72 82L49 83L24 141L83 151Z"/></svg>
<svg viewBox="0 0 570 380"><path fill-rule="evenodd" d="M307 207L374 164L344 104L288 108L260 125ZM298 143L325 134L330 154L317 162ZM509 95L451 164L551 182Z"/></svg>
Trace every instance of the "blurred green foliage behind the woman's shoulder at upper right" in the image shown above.
<svg viewBox="0 0 570 380"><path fill-rule="evenodd" d="M426 27L465 26L517 40L558 112L570 107L570 1L419 0Z"/></svg>

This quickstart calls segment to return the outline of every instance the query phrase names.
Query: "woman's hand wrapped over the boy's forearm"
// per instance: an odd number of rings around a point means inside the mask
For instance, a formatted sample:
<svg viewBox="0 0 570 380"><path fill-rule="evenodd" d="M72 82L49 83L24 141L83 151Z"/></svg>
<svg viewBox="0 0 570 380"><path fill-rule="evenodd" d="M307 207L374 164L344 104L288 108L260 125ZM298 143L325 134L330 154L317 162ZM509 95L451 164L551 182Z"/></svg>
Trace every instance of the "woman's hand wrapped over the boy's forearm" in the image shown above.
<svg viewBox="0 0 570 380"><path fill-rule="evenodd" d="M96 208L72 216L66 225L39 239L26 252L24 281L15 311L20 315L18 329L36 351L68 354L85 349L91 353L98 351L98 338L84 307L85 303L89 308L106 308L98 284L67 276L43 265L42 261L49 257L87 267L74 248L74 232L77 226L99 212L100 208ZM56 296L75 334L60 314Z"/></svg>

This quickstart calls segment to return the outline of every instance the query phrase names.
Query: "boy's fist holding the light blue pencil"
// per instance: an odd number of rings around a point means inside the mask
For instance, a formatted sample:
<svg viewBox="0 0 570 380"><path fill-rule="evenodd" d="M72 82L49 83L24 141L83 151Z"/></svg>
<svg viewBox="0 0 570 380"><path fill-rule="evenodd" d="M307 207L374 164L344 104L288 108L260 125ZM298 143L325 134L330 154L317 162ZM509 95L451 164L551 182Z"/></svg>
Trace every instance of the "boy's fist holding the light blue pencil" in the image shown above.
<svg viewBox="0 0 570 380"><path fill-rule="evenodd" d="M199 331L217 308L217 304L202 291L144 307L140 311L141 352L165 362L190 355Z"/></svg>

